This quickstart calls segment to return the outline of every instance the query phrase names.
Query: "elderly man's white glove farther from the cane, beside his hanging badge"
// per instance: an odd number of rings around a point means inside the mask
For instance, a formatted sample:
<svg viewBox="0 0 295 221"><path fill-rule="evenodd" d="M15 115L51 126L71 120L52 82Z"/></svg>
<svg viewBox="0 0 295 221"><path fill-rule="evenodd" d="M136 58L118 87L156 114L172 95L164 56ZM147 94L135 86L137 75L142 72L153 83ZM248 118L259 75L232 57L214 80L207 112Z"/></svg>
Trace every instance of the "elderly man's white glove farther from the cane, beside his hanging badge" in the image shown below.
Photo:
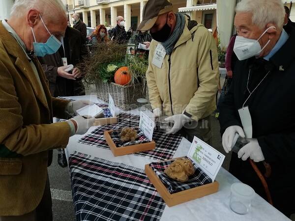
<svg viewBox="0 0 295 221"><path fill-rule="evenodd" d="M238 133L240 137L244 138L245 134L240 126L228 127L222 135L222 146L225 152L229 153L232 150L235 134Z"/></svg>

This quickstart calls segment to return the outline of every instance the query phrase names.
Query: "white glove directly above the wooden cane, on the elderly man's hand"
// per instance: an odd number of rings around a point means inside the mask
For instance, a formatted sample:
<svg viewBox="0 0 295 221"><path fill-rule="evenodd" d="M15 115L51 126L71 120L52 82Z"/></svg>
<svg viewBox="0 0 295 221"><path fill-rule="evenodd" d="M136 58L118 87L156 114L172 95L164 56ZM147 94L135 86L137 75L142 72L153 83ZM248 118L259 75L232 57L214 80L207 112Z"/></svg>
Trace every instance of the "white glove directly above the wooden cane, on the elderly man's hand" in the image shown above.
<svg viewBox="0 0 295 221"><path fill-rule="evenodd" d="M250 142L238 151L237 157L242 158L243 161L247 160L248 157L250 157L250 159L254 162L264 161L265 157L262 153L261 147L259 146L258 140L254 138L247 140Z"/></svg>

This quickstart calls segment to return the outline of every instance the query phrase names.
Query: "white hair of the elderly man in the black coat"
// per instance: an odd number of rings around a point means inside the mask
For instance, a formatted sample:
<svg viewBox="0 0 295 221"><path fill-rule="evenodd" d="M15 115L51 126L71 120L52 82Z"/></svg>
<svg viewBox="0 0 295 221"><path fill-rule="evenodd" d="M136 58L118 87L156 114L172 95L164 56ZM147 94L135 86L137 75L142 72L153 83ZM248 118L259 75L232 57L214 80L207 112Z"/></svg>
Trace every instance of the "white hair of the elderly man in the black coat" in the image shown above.
<svg viewBox="0 0 295 221"><path fill-rule="evenodd" d="M236 5L236 12L252 14L252 23L259 28L266 28L268 23L274 23L282 29L285 9L282 0L241 0Z"/></svg>

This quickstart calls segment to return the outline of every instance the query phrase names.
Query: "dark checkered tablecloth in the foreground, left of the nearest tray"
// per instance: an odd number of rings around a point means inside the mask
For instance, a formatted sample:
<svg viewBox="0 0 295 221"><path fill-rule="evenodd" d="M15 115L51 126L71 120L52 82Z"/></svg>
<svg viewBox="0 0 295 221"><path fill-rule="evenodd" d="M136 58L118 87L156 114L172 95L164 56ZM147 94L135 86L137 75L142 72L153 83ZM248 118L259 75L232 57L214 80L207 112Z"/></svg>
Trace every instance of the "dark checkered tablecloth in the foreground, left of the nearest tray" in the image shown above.
<svg viewBox="0 0 295 221"><path fill-rule="evenodd" d="M144 170L104 159L69 157L77 221L158 221L165 203Z"/></svg>

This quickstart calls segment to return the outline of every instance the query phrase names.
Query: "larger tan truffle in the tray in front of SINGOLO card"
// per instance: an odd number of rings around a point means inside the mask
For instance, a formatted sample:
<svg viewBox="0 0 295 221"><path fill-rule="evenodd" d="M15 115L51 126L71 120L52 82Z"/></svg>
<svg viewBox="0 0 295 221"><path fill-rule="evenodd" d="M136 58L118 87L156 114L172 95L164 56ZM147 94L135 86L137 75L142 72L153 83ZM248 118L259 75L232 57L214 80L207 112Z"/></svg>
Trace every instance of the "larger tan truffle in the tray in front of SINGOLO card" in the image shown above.
<svg viewBox="0 0 295 221"><path fill-rule="evenodd" d="M188 177L195 173L195 168L189 159L178 159L169 165L165 170L170 178L179 182L188 181Z"/></svg>

